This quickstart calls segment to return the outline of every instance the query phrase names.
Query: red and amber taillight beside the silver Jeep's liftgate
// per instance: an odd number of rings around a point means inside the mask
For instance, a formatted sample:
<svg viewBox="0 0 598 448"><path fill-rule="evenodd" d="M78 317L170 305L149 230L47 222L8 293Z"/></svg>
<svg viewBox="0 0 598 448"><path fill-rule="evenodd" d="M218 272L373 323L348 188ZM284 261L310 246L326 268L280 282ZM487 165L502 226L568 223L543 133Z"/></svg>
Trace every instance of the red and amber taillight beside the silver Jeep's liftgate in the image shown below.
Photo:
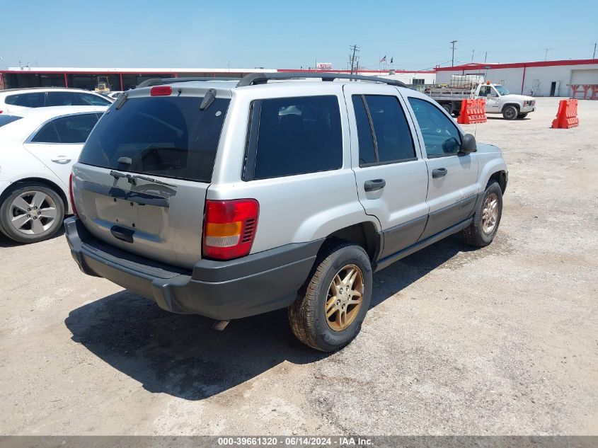
<svg viewBox="0 0 598 448"><path fill-rule="evenodd" d="M251 251L260 205L255 199L207 200L203 256L231 260Z"/></svg>

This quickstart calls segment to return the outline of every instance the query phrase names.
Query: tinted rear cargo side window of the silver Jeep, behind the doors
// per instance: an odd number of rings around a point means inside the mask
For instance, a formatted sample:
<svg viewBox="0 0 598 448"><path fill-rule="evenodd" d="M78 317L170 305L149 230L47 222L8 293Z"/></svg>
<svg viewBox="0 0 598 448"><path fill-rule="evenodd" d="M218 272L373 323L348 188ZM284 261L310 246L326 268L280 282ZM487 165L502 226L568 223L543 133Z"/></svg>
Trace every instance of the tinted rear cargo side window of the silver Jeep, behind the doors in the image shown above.
<svg viewBox="0 0 598 448"><path fill-rule="evenodd" d="M243 178L265 179L338 169L343 138L336 96L302 96L252 103Z"/></svg>

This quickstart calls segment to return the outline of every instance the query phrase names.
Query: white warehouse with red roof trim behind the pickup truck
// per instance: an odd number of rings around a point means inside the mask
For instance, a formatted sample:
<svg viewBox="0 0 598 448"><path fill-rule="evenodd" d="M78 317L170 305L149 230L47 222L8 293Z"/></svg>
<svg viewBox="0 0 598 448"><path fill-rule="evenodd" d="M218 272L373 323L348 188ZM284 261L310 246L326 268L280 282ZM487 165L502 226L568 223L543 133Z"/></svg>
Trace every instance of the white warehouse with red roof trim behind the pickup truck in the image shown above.
<svg viewBox="0 0 598 448"><path fill-rule="evenodd" d="M585 95L590 98L592 89L587 86L598 86L598 59L437 67L436 82L448 84L454 74L483 75L484 79L502 84L511 93L531 96L570 97L573 96L571 86L577 86L575 98L584 98Z"/></svg>

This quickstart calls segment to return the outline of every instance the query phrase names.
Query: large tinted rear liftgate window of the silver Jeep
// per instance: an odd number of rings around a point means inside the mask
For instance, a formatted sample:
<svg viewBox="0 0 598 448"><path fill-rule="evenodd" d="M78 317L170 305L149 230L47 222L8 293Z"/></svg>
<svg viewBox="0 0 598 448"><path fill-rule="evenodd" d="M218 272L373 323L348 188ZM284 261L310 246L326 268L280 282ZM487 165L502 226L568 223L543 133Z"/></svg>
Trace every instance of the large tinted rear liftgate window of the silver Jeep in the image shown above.
<svg viewBox="0 0 598 448"><path fill-rule="evenodd" d="M81 163L167 178L212 180L230 100L200 110L201 97L130 98L93 129ZM120 157L132 163L118 163Z"/></svg>

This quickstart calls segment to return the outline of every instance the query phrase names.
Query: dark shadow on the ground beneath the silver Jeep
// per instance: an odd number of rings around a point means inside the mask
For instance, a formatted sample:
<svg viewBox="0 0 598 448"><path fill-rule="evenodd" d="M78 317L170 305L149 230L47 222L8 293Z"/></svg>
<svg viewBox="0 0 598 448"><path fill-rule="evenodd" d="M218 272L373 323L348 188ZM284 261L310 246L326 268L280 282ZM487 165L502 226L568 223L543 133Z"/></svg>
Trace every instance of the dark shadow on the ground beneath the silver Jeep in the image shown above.
<svg viewBox="0 0 598 448"><path fill-rule="evenodd" d="M466 250L459 240L445 239L376 273L372 306ZM213 331L209 318L171 314L124 290L74 309L64 323L72 340L147 391L186 400L219 394L284 361L307 364L328 356L294 338L284 309Z"/></svg>

